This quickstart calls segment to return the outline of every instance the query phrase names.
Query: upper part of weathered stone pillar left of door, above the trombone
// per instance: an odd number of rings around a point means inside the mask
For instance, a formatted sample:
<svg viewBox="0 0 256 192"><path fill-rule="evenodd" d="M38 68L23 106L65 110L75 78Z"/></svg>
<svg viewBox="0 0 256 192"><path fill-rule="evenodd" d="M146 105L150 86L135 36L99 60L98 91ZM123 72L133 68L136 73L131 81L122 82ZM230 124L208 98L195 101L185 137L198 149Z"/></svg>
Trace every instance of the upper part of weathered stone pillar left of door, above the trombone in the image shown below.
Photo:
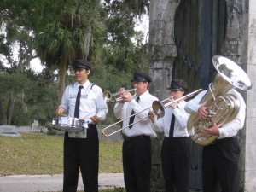
<svg viewBox="0 0 256 192"><path fill-rule="evenodd" d="M150 3L149 13L149 74L153 78L150 89L160 100L168 96L166 87L172 80L172 64L177 57L174 43L174 15L177 0Z"/></svg>

